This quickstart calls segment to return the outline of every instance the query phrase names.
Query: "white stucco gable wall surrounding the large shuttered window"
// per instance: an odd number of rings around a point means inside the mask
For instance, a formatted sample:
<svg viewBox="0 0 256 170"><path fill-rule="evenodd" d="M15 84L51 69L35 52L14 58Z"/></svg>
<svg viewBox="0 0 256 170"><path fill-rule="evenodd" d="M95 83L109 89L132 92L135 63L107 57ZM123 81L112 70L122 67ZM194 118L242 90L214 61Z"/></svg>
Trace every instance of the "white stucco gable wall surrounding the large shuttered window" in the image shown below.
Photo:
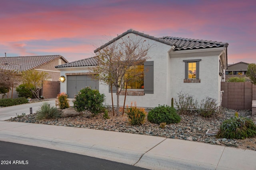
<svg viewBox="0 0 256 170"><path fill-rule="evenodd" d="M129 33L124 36L123 39L127 36L133 37L136 35ZM149 42L151 45L154 44L153 47L148 51L150 59L147 60L154 61L154 94L145 94L144 96L126 96L125 106L130 106L131 102L136 102L138 107L155 107L158 106L158 104L166 104L166 100L170 98L167 94L168 63L166 60L168 58L168 51L171 49L171 46L144 37L142 37L142 39L146 39L146 42ZM112 105L111 93L109 93L108 85L100 83L99 87L100 93L104 93L106 95L105 105ZM114 105L116 106L115 93L113 94L113 98ZM120 95L120 107L122 107L123 104L124 96Z"/></svg>

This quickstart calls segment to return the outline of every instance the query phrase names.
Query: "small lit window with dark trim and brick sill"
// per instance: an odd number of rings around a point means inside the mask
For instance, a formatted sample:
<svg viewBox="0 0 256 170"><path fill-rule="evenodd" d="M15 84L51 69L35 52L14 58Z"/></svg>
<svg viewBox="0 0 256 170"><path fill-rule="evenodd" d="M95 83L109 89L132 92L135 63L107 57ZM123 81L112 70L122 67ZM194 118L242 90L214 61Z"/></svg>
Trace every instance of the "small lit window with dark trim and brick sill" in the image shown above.
<svg viewBox="0 0 256 170"><path fill-rule="evenodd" d="M183 60L183 61L185 62L185 79L184 79L184 82L200 82L200 79L199 79L199 62L201 61L201 59Z"/></svg>

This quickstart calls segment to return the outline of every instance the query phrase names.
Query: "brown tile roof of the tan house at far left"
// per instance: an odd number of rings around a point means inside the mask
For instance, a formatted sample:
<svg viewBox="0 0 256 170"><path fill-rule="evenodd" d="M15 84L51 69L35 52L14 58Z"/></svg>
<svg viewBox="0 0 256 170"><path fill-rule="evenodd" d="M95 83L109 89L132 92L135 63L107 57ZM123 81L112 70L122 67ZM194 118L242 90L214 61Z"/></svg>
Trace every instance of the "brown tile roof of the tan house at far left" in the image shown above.
<svg viewBox="0 0 256 170"><path fill-rule="evenodd" d="M68 61L61 55L0 57L0 69L22 72L32 70L59 58L62 58L68 63Z"/></svg>

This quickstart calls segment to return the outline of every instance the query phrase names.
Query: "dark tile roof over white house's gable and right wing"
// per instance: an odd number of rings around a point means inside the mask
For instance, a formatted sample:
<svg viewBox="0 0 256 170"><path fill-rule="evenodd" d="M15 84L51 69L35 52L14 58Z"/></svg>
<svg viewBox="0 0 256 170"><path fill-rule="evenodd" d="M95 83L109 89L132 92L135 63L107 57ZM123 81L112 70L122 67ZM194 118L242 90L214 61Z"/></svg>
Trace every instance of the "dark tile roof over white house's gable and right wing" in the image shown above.
<svg viewBox="0 0 256 170"><path fill-rule="evenodd" d="M122 33L121 35L118 35L116 38L112 39L108 43L102 45L101 47L94 50L94 53L99 51L100 49L103 49L104 47L110 45L114 41L120 39L124 35L128 33L134 33L136 35L140 35L142 37L146 37L148 39L153 39L155 41L174 46L174 51L177 50L189 50L189 49L205 49L205 48L214 48L214 47L228 47L228 43L222 43L217 41L207 41L207 40L199 40L199 39L188 39L188 38L178 38L178 37L154 37L150 36L148 34L144 34L138 31L135 31L133 29L129 29L126 32Z"/></svg>

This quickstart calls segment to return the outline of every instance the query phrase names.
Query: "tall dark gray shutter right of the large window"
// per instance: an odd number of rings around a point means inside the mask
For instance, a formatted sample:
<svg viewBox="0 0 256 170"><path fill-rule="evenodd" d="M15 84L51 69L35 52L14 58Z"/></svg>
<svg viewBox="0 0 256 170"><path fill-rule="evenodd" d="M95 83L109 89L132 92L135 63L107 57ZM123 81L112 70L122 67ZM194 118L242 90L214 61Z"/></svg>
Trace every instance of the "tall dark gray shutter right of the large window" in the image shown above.
<svg viewBox="0 0 256 170"><path fill-rule="evenodd" d="M144 94L154 94L154 61L144 62Z"/></svg>

